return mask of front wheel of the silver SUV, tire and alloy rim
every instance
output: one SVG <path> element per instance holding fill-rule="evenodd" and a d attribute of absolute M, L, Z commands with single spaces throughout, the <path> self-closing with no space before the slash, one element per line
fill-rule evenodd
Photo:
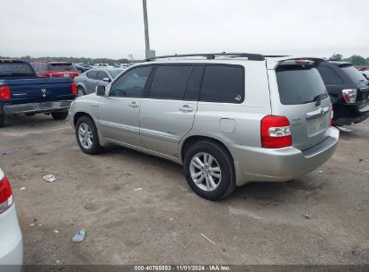
<path fill-rule="evenodd" d="M 101 151 L 99 134 L 95 123 L 88 116 L 82 116 L 75 125 L 75 137 L 80 149 L 86 154 L 97 154 Z"/>

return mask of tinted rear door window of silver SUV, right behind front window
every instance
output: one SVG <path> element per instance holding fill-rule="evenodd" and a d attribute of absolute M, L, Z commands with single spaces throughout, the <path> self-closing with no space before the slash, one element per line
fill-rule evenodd
<path fill-rule="evenodd" d="M 182 99 L 191 70 L 191 65 L 158 66 L 149 98 Z"/>

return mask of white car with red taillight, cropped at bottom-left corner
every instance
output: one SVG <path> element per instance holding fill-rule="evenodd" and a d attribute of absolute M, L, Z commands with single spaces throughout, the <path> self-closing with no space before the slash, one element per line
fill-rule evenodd
<path fill-rule="evenodd" d="M 15 210 L 12 187 L 1 168 L 0 241 L 0 270 L 3 267 L 6 271 L 21 271 L 23 263 L 22 233 Z M 12 267 L 4 267 L 5 265 L 12 265 Z M 13 267 L 13 265 L 18 265 L 18 267 Z"/>

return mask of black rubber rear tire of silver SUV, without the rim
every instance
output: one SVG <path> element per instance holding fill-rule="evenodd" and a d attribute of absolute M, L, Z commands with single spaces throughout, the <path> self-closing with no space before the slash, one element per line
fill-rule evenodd
<path fill-rule="evenodd" d="M 192 158 L 203 152 L 214 157 L 216 163 L 221 169 L 221 178 L 218 180 L 218 185 L 213 191 L 205 191 L 199 188 L 190 174 Z M 184 172 L 186 174 L 189 187 L 191 187 L 191 189 L 200 197 L 206 200 L 222 200 L 236 187 L 233 158 L 227 149 L 213 141 L 198 141 L 187 150 L 184 158 Z"/>

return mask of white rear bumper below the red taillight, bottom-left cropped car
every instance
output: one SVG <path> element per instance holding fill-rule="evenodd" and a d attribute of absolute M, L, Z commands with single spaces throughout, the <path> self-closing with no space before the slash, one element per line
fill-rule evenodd
<path fill-rule="evenodd" d="M 0 215 L 0 241 L 0 266 L 22 265 L 22 233 L 14 204 Z"/>

